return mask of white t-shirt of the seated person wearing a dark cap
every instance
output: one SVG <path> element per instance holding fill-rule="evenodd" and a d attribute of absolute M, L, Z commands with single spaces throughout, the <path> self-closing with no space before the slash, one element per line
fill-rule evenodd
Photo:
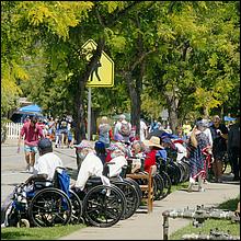
<path fill-rule="evenodd" d="M 48 152 L 36 160 L 34 174 L 47 174 L 47 180 L 53 180 L 57 167 L 64 168 L 61 159 L 54 152 Z"/>

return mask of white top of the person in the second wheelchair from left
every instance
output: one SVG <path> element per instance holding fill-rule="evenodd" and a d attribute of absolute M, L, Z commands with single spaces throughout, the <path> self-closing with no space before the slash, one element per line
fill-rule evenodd
<path fill-rule="evenodd" d="M 90 176 L 100 176 L 103 184 L 110 185 L 108 179 L 103 176 L 103 163 L 93 152 L 89 152 L 83 159 L 77 176 L 76 187 L 83 190 Z"/>

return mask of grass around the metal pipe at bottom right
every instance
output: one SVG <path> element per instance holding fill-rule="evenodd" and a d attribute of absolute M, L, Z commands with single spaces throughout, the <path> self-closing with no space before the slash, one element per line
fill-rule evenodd
<path fill-rule="evenodd" d="M 225 203 L 221 203 L 217 208 L 220 209 L 228 209 L 234 211 L 237 208 L 237 204 L 240 200 L 240 196 L 234 199 L 229 199 Z M 184 234 L 191 233 L 202 233 L 202 234 L 209 234 L 210 229 L 218 228 L 219 231 L 228 232 L 230 231 L 231 236 L 240 236 L 240 222 L 232 222 L 230 220 L 214 220 L 209 219 L 204 222 L 202 227 L 195 228 L 192 225 L 192 221 L 185 228 L 182 228 L 174 233 L 172 233 L 169 239 L 170 240 L 181 240 Z"/>

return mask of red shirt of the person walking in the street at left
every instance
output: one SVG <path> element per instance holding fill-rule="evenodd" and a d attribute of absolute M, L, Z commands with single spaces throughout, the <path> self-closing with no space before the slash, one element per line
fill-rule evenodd
<path fill-rule="evenodd" d="M 43 130 L 39 126 L 31 126 L 31 122 L 24 123 L 21 133 L 21 137 L 24 136 L 24 144 L 31 147 L 36 147 L 39 138 L 43 138 Z"/>

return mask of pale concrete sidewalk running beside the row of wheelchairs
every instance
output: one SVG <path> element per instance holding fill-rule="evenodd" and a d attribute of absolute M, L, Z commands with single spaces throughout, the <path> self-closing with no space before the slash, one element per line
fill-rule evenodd
<path fill-rule="evenodd" d="M 111 228 L 87 227 L 59 240 L 163 240 L 162 213 L 174 208 L 195 208 L 196 205 L 217 206 L 219 203 L 236 198 L 240 194 L 240 183 L 223 176 L 223 183 L 207 183 L 205 192 L 187 193 L 176 191 L 163 200 L 154 200 L 151 214 L 134 214 Z M 169 218 L 169 236 L 185 227 L 191 220 Z"/>

